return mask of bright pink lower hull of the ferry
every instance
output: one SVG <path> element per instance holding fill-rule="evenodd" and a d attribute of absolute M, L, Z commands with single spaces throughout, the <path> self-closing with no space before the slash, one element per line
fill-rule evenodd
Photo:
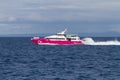
<path fill-rule="evenodd" d="M 37 45 L 81 45 L 83 44 L 82 41 L 67 41 L 67 40 L 50 40 L 46 38 L 37 38 L 37 39 L 31 39 L 33 43 Z"/>

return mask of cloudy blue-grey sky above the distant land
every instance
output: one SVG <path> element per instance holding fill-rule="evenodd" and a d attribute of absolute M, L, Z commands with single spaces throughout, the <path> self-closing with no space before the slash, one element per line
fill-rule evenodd
<path fill-rule="evenodd" d="M 120 0 L 0 0 L 0 35 L 120 32 Z"/>

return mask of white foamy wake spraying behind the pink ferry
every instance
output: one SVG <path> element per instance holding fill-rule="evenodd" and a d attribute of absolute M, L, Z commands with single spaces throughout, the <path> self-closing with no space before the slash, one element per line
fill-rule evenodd
<path fill-rule="evenodd" d="M 94 41 L 92 38 L 84 38 L 82 41 L 85 45 L 120 45 L 120 41 L 118 40 Z"/>

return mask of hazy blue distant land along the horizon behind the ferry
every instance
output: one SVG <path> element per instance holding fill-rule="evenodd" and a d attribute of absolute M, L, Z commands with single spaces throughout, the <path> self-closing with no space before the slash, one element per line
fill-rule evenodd
<path fill-rule="evenodd" d="M 5 34 L 0 35 L 0 37 L 45 37 L 49 35 L 54 35 L 56 33 L 36 33 L 36 34 Z M 68 33 L 69 34 L 69 33 Z M 72 33 L 74 34 L 74 33 Z M 76 33 L 80 37 L 120 37 L 120 32 L 104 32 L 104 33 Z"/>

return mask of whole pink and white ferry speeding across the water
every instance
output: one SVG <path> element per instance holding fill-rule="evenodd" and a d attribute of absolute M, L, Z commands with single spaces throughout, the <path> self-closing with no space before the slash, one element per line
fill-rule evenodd
<path fill-rule="evenodd" d="M 37 45 L 81 45 L 83 41 L 74 34 L 66 34 L 64 31 L 57 33 L 56 35 L 47 36 L 44 38 L 33 37 L 32 42 Z"/>

